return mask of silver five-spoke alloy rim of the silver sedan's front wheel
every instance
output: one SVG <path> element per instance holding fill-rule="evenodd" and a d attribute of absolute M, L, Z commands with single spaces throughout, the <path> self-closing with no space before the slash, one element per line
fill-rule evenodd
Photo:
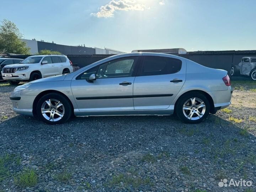
<path fill-rule="evenodd" d="M 41 112 L 48 121 L 59 121 L 65 113 L 63 104 L 56 99 L 48 99 L 43 102 Z"/>

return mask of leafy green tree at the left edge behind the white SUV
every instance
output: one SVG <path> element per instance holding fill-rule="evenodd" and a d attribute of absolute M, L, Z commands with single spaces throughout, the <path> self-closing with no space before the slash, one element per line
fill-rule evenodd
<path fill-rule="evenodd" d="M 16 25 L 4 19 L 0 25 L 0 53 L 30 54 L 30 48 L 20 38 L 22 34 Z"/>

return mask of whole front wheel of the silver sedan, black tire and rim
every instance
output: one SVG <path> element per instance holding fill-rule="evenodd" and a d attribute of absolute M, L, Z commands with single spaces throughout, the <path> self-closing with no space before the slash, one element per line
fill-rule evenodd
<path fill-rule="evenodd" d="M 38 118 L 50 125 L 68 121 L 73 113 L 72 109 L 70 101 L 58 93 L 44 95 L 36 106 Z"/>

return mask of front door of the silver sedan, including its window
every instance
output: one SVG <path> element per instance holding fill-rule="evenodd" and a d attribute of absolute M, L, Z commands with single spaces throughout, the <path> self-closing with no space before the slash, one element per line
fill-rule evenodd
<path fill-rule="evenodd" d="M 126 57 L 90 68 L 71 81 L 79 111 L 133 110 L 133 82 L 139 57 Z M 91 74 L 96 80 L 89 81 Z"/>

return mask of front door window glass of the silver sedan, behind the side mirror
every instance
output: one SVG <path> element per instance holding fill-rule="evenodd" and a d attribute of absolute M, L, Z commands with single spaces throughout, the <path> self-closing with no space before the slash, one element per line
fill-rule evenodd
<path fill-rule="evenodd" d="M 135 63 L 138 57 L 128 57 L 112 60 L 110 62 L 88 69 L 76 79 L 88 79 L 91 74 L 96 74 L 96 78 L 117 78 L 132 76 Z"/>

